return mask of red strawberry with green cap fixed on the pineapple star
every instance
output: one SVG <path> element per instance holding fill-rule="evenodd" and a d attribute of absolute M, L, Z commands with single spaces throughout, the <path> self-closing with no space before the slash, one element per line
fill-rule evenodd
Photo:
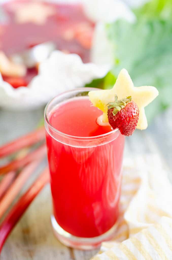
<path fill-rule="evenodd" d="M 108 120 L 113 129 L 118 128 L 123 135 L 132 135 L 139 118 L 139 109 L 131 96 L 108 103 Z"/>

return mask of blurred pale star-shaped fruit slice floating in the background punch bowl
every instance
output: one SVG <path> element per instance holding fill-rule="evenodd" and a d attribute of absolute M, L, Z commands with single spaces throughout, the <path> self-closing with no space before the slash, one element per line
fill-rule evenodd
<path fill-rule="evenodd" d="M 17 23 L 35 23 L 42 25 L 47 17 L 55 12 L 52 7 L 41 3 L 22 3 L 15 11 L 15 20 Z"/>

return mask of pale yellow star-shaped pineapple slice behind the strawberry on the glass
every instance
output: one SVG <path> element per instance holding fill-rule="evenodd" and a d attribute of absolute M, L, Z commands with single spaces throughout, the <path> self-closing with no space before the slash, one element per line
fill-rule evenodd
<path fill-rule="evenodd" d="M 117 94 L 119 100 L 127 96 L 132 97 L 132 100 L 137 104 L 140 111 L 137 129 L 146 129 L 148 123 L 144 107 L 157 97 L 158 90 L 152 86 L 134 87 L 127 70 L 122 69 L 112 89 L 93 90 L 89 92 L 89 99 L 92 104 L 103 111 L 104 123 L 108 122 L 107 104 L 114 102 L 115 94 Z"/>

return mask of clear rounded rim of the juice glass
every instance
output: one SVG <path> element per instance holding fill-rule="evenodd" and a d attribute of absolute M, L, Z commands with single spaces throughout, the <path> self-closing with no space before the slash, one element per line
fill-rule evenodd
<path fill-rule="evenodd" d="M 49 126 L 55 133 L 57 133 L 57 134 L 59 134 L 59 135 L 65 136 L 65 137 L 67 137 L 67 138 L 72 138 L 72 139 L 75 139 L 75 138 L 76 138 L 76 139 L 79 139 L 79 140 L 81 140 L 81 139 L 83 139 L 83 140 L 99 139 L 99 138 L 103 138 L 103 137 L 106 137 L 106 136 L 108 136 L 108 135 L 111 135 L 111 134 L 114 134 L 114 133 L 118 132 L 119 129 L 116 128 L 116 129 L 114 129 L 114 130 L 112 130 L 112 131 L 110 131 L 110 132 L 108 132 L 108 133 L 101 134 L 101 135 L 96 135 L 96 136 L 74 136 L 74 135 L 65 134 L 65 133 L 63 133 L 63 132 L 57 130 L 56 128 L 54 128 L 54 127 L 51 125 L 50 121 L 48 120 L 48 116 L 47 116 L 47 109 L 48 109 L 48 106 L 50 105 L 50 103 L 53 102 L 57 97 L 60 97 L 60 96 L 62 96 L 62 95 L 65 95 L 65 94 L 67 94 L 67 93 L 70 93 L 70 92 L 75 92 L 75 91 L 78 92 L 78 90 L 84 90 L 84 91 L 87 90 L 87 91 L 89 92 L 89 91 L 91 91 L 91 90 L 101 90 L 101 89 L 99 89 L 99 88 L 90 88 L 90 87 L 74 88 L 74 89 L 71 89 L 71 90 L 67 90 L 67 91 L 65 91 L 65 92 L 62 92 L 62 93 L 56 95 L 55 97 L 53 97 L 53 98 L 47 103 L 47 105 L 45 106 L 45 109 L 44 109 L 44 119 L 45 119 L 45 121 L 47 122 L 48 126 Z M 83 91 L 83 92 L 84 92 L 84 91 Z M 45 126 L 45 128 L 46 128 L 46 126 Z"/>

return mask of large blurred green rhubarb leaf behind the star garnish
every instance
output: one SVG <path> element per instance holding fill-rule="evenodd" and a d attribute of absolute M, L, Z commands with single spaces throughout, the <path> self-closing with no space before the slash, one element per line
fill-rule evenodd
<path fill-rule="evenodd" d="M 114 79 L 125 68 L 135 86 L 155 86 L 159 91 L 156 100 L 146 108 L 148 120 L 169 107 L 172 96 L 172 21 L 141 19 L 131 24 L 120 20 L 107 25 L 107 36 L 114 46 L 111 71 Z"/>

